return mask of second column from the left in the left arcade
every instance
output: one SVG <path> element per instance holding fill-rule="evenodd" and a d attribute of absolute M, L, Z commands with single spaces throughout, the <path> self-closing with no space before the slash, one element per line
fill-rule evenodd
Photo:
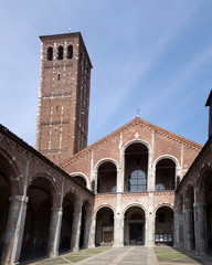
<path fill-rule="evenodd" d="M 61 239 L 61 225 L 62 225 L 62 209 L 51 209 L 51 220 L 47 241 L 47 256 L 55 257 L 59 255 L 59 244 Z"/>

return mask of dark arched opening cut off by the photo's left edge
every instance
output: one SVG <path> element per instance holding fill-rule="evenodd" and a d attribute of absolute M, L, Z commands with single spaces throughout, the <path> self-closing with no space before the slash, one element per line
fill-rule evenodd
<path fill-rule="evenodd" d="M 10 170 L 9 163 L 0 157 L 0 258 L 3 250 L 8 214 L 9 214 L 9 198 L 11 195 Z"/>

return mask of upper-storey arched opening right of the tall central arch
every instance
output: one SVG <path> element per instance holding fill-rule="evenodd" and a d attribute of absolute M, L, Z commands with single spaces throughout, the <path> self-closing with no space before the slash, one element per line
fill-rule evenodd
<path fill-rule="evenodd" d="M 161 159 L 156 165 L 156 191 L 176 189 L 176 163 L 172 159 Z"/>

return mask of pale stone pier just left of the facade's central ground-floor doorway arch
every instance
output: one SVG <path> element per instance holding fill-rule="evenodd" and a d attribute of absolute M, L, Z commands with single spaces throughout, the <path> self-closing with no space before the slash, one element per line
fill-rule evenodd
<path fill-rule="evenodd" d="M 114 220 L 114 246 L 124 246 L 124 219 L 120 213 Z"/>

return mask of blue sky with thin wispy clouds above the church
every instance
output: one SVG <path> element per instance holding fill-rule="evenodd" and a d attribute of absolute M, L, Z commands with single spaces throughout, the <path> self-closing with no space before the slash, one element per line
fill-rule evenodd
<path fill-rule="evenodd" d="M 0 123 L 34 146 L 39 35 L 82 32 L 92 63 L 88 144 L 136 117 L 199 144 L 212 88 L 210 0 L 1 0 Z"/>

